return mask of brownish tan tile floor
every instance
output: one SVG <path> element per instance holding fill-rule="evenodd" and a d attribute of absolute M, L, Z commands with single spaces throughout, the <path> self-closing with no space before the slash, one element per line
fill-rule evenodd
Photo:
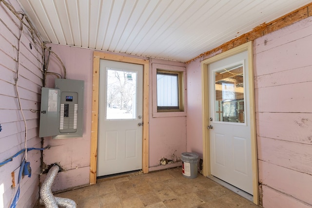
<path fill-rule="evenodd" d="M 181 168 L 102 179 L 55 196 L 73 199 L 77 208 L 259 208 L 201 174 L 184 177 Z"/>

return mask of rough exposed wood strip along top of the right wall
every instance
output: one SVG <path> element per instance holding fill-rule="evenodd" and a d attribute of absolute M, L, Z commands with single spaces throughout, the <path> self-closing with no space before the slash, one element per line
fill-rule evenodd
<path fill-rule="evenodd" d="M 299 9 L 296 9 L 295 11 L 293 11 L 289 14 L 286 14 L 283 17 L 275 19 L 271 22 L 263 23 L 263 24 L 255 27 L 249 33 L 245 33 L 245 34 L 243 34 L 237 38 L 234 38 L 228 42 L 223 43 L 222 45 L 220 45 L 220 46 L 218 46 L 218 47 L 216 47 L 210 51 L 202 53 L 202 54 L 198 55 L 197 57 L 186 61 L 186 64 L 189 64 L 198 58 L 201 58 L 201 60 L 204 60 L 206 58 L 214 57 L 217 54 L 221 54 L 225 51 L 228 51 L 230 49 L 235 48 L 236 46 L 247 43 L 247 42 L 252 41 L 256 38 L 260 38 L 264 35 L 272 33 L 272 32 L 279 30 L 283 27 L 291 25 L 292 23 L 294 23 L 296 21 L 306 19 L 310 16 L 312 16 L 312 3 L 309 3 L 309 4 L 303 6 Z"/>

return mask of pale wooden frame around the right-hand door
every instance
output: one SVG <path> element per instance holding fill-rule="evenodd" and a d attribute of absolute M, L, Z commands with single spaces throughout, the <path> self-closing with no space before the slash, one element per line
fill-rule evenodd
<path fill-rule="evenodd" d="M 218 54 L 214 57 L 201 61 L 201 77 L 202 77 L 202 132 L 203 132 L 203 175 L 211 174 L 210 169 L 210 135 L 209 129 L 209 72 L 208 65 L 221 59 L 234 56 L 235 54 L 248 51 L 248 72 L 249 72 L 249 98 L 250 98 L 250 124 L 251 124 L 251 151 L 252 151 L 252 168 L 253 168 L 253 196 L 254 204 L 259 204 L 258 189 L 258 163 L 257 163 L 257 143 L 255 129 L 255 105 L 254 105 L 254 70 L 253 70 L 253 42 L 247 42 L 236 48 Z M 247 104 L 247 105 L 248 105 Z"/>

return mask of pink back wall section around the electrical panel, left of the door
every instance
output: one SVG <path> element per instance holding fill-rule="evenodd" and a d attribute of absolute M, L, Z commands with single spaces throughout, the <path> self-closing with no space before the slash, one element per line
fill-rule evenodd
<path fill-rule="evenodd" d="M 43 162 L 48 166 L 59 163 L 66 170 L 59 172 L 52 190 L 64 190 L 89 184 L 91 152 L 91 111 L 92 111 L 92 74 L 93 51 L 70 46 L 48 44 L 66 67 L 66 78 L 84 80 L 83 136 L 82 138 L 52 139 L 44 138 L 44 146 L 51 149 L 44 151 Z M 59 60 L 51 54 L 48 71 L 63 75 Z M 47 76 L 46 87 L 54 88 L 56 76 Z M 46 174 L 40 175 L 40 182 Z"/>

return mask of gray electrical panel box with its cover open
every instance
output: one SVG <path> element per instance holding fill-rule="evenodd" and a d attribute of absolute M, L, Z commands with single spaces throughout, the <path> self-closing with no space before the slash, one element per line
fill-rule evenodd
<path fill-rule="evenodd" d="M 84 81 L 55 79 L 55 89 L 46 89 L 42 88 L 41 94 L 39 137 L 82 137 Z M 57 94 L 57 101 L 53 93 Z M 49 107 L 52 104 L 54 106 L 55 102 L 57 107 Z M 58 113 L 55 113 L 55 110 Z M 51 123 L 53 124 L 49 125 Z"/>

